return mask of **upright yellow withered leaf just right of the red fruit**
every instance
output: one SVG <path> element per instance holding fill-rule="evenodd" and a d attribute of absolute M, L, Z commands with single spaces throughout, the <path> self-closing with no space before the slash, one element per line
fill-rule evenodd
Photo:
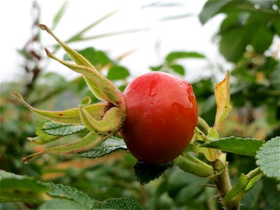
<path fill-rule="evenodd" d="M 225 118 L 232 109 L 230 105 L 230 73 L 227 71 L 225 78 L 215 84 L 215 97 L 217 102 L 217 112 L 214 128 L 217 132 L 221 132 Z"/>

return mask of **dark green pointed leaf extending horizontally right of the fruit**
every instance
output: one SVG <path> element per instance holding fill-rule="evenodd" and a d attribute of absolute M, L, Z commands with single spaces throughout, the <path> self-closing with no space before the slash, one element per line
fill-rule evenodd
<path fill-rule="evenodd" d="M 242 139 L 239 137 L 226 137 L 212 141 L 211 143 L 203 144 L 202 147 L 217 148 L 221 151 L 229 153 L 237 153 L 240 155 L 255 156 L 260 146 L 265 141 L 255 139 Z"/>

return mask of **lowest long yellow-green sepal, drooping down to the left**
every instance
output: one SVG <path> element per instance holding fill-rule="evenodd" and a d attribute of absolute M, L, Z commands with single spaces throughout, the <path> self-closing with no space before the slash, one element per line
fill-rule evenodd
<path fill-rule="evenodd" d="M 67 144 L 63 146 L 55 146 L 52 148 L 47 148 L 45 151 L 41 151 L 38 153 L 34 153 L 32 155 L 28 155 L 25 158 L 22 158 L 22 162 L 28 163 L 34 158 L 37 158 L 38 156 L 41 156 L 43 154 L 73 154 L 78 153 L 82 151 L 87 151 L 90 148 L 93 148 L 94 146 L 97 146 L 98 144 L 101 144 L 102 141 L 105 141 L 108 137 L 110 137 L 111 134 L 106 136 L 100 136 L 97 133 L 90 132 L 85 137 L 80 139 L 79 141 L 76 141 L 72 144 Z"/>

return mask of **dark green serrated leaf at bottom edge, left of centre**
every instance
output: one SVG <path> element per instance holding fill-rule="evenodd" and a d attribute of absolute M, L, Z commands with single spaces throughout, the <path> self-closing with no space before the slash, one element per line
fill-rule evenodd
<path fill-rule="evenodd" d="M 130 197 L 112 198 L 94 202 L 93 209 L 143 210 L 141 205 Z"/>

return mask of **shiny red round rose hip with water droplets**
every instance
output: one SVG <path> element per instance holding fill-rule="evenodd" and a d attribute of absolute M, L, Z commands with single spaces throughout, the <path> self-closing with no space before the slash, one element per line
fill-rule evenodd
<path fill-rule="evenodd" d="M 186 80 L 146 73 L 127 85 L 124 95 L 127 113 L 120 134 L 137 160 L 161 164 L 183 153 L 198 120 L 193 87 Z"/>

